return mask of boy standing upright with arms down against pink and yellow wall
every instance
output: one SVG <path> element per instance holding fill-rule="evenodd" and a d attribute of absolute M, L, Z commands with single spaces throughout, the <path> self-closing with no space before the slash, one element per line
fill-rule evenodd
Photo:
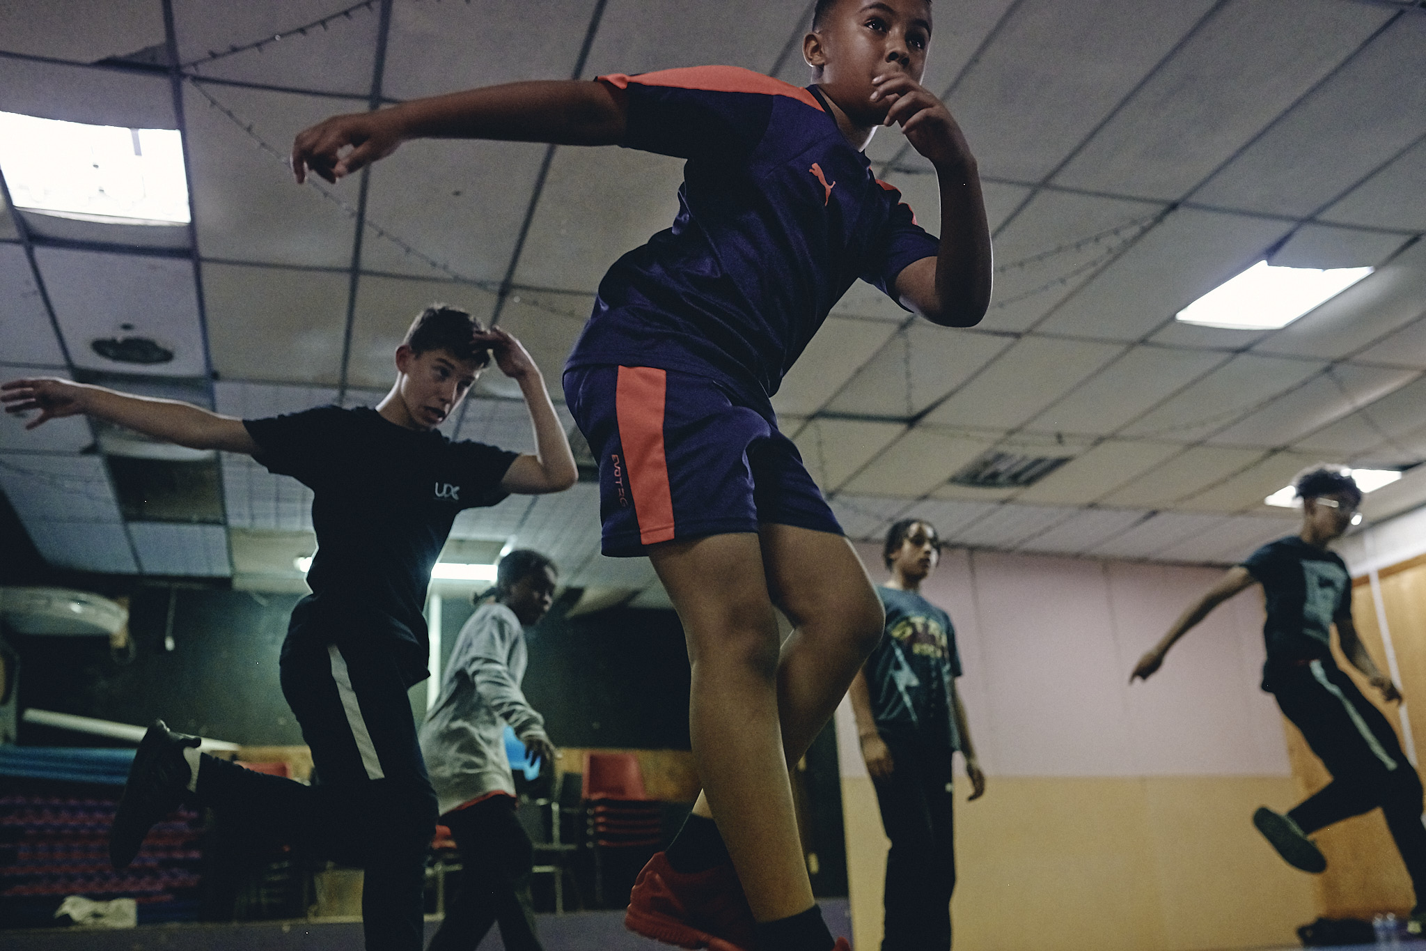
<path fill-rule="evenodd" d="M 965 757 L 971 800 L 985 791 L 955 690 L 961 657 L 944 610 L 921 597 L 940 560 L 935 529 L 920 519 L 887 532 L 883 559 L 891 580 L 877 589 L 886 636 L 851 682 L 848 696 L 861 756 L 877 790 L 887 853 L 881 951 L 951 947 L 955 890 L 951 759 Z"/>

